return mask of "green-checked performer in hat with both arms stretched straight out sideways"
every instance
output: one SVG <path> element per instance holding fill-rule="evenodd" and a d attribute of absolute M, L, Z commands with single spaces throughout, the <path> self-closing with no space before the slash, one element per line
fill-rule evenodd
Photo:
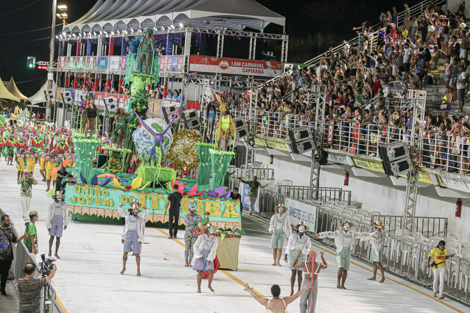
<path fill-rule="evenodd" d="M 346 289 L 345 288 L 345 281 L 346 277 L 348 276 L 349 266 L 351 262 L 351 249 L 354 240 L 370 239 L 375 238 L 372 234 L 369 233 L 360 233 L 353 230 L 349 230 L 350 227 L 354 226 L 354 224 L 350 221 L 344 221 L 339 224 L 339 227 L 343 228 L 343 230 L 335 230 L 335 231 L 323 231 L 318 233 L 313 237 L 313 239 L 317 238 L 335 238 L 335 245 L 336 245 L 336 263 L 338 266 L 338 281 L 336 288 L 338 289 Z"/>

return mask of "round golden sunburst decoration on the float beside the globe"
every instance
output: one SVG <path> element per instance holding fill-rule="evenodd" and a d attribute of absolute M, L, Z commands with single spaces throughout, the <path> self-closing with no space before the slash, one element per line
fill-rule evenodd
<path fill-rule="evenodd" d="M 201 135 L 196 130 L 178 130 L 173 134 L 170 150 L 165 158 L 178 169 L 193 169 L 199 166 L 199 155 L 196 143 L 201 141 Z"/>

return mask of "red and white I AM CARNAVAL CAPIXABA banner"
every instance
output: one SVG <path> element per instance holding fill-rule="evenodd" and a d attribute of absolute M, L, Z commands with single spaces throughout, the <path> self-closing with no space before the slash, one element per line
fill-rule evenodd
<path fill-rule="evenodd" d="M 191 55 L 189 58 L 189 70 L 197 72 L 275 77 L 281 74 L 282 63 L 275 61 L 243 60 Z"/>

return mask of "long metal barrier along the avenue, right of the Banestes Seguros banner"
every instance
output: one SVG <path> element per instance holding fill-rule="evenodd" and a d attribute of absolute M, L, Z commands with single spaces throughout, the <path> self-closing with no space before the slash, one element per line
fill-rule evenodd
<path fill-rule="evenodd" d="M 344 216 L 334 214 L 328 210 L 317 208 L 316 232 L 340 230 L 339 224 L 345 220 Z M 351 230 L 359 232 L 372 232 L 374 228 L 370 224 L 353 221 Z M 321 239 L 325 244 L 334 247 L 334 239 Z M 383 230 L 382 240 L 382 265 L 385 269 L 403 276 L 412 282 L 430 286 L 433 276 L 431 268 L 426 267 L 426 260 L 434 246 L 415 242 L 413 240 L 392 234 Z M 360 260 L 369 261 L 370 244 L 368 241 L 355 241 L 352 244 L 352 255 Z M 454 256 L 447 260 L 446 283 L 444 294 L 470 305 L 470 290 L 468 279 L 470 276 L 470 260 Z"/>

